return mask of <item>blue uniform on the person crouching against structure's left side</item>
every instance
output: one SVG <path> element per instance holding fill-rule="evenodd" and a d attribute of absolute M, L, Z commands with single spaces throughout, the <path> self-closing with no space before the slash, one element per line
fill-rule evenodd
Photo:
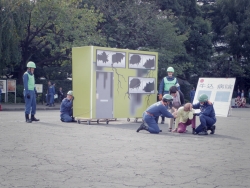
<path fill-rule="evenodd" d="M 62 100 L 61 106 L 60 106 L 60 112 L 61 112 L 61 120 L 63 122 L 72 122 L 72 116 L 73 116 L 73 100 L 68 100 L 67 98 L 64 98 Z"/>

